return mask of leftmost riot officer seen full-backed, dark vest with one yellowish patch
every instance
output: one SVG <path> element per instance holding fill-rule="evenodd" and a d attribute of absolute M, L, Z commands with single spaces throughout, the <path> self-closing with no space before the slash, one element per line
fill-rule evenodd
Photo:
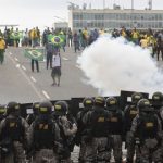
<path fill-rule="evenodd" d="M 3 163 L 23 163 L 26 160 L 27 122 L 20 116 L 20 104 L 9 102 L 7 117 L 0 123 L 0 142 L 7 150 L 2 155 Z"/>

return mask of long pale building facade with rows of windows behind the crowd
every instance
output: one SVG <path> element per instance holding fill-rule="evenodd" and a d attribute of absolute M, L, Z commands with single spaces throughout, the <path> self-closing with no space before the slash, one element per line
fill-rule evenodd
<path fill-rule="evenodd" d="M 68 27 L 73 30 L 85 27 L 118 29 L 123 26 L 128 29 L 163 29 L 163 10 L 71 9 L 68 18 Z"/>

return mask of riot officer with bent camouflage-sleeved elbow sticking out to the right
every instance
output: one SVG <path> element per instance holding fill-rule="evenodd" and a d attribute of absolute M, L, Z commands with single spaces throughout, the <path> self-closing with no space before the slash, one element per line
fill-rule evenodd
<path fill-rule="evenodd" d="M 60 128 L 62 138 L 62 152 L 59 153 L 59 162 L 71 163 L 71 148 L 77 131 L 77 125 L 72 124 L 67 118 L 68 104 L 66 101 L 57 101 L 54 103 L 54 120 Z"/>

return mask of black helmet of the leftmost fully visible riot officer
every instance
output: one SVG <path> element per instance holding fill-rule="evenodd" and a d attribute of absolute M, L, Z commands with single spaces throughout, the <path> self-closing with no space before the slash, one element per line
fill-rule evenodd
<path fill-rule="evenodd" d="M 20 110 L 21 110 L 20 103 L 14 102 L 14 101 L 9 102 L 7 105 L 7 115 L 14 114 L 14 113 L 18 114 Z"/>

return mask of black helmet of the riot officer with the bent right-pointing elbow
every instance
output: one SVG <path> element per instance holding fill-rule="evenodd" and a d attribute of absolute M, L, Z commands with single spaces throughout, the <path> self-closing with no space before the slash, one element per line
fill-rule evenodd
<path fill-rule="evenodd" d="M 54 114 L 55 115 L 66 115 L 68 112 L 68 104 L 66 101 L 57 101 L 54 103 Z"/>

